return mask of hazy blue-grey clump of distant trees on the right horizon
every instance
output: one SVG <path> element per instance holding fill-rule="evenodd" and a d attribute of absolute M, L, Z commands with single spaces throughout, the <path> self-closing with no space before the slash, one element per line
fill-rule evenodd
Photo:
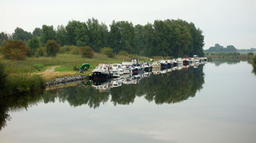
<path fill-rule="evenodd" d="M 209 49 L 206 49 L 205 52 L 237 52 L 235 46 L 229 45 L 226 48 L 216 43 L 215 46 L 211 46 Z"/>

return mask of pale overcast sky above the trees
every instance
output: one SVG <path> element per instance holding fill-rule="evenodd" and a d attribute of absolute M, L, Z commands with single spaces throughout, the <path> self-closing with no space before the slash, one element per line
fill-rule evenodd
<path fill-rule="evenodd" d="M 0 31 L 8 33 L 92 17 L 107 25 L 184 19 L 203 30 L 204 49 L 215 43 L 256 48 L 256 0 L 0 0 Z"/>

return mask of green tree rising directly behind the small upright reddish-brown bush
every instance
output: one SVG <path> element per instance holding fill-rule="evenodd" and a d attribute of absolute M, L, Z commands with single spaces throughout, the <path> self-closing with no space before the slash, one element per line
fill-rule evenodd
<path fill-rule="evenodd" d="M 46 43 L 48 40 L 56 40 L 56 32 L 53 29 L 53 25 L 43 25 L 41 32 L 42 43 Z"/>

